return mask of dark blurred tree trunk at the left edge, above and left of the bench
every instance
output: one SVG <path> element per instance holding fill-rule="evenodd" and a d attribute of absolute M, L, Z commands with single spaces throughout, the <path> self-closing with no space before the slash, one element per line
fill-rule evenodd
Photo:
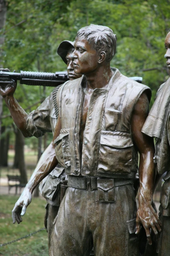
<path fill-rule="evenodd" d="M 0 166 L 8 166 L 9 132 L 5 134 L 6 127 L 1 127 L 0 140 Z"/>

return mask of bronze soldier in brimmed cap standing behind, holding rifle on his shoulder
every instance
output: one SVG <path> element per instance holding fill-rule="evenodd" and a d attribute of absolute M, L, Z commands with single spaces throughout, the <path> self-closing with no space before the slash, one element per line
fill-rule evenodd
<path fill-rule="evenodd" d="M 67 64 L 68 76 L 70 80 L 81 77 L 74 73 L 73 61 L 71 53 L 74 51 L 74 44 L 70 41 L 63 41 L 58 47 L 58 54 Z M 8 69 L 0 69 L 9 71 Z M 7 85 L 0 87 L 0 94 L 4 97 L 11 116 L 25 137 L 40 137 L 45 132 L 53 132 L 57 118 L 58 108 L 56 105 L 56 94 L 60 86 L 54 88 L 53 92 L 47 97 L 44 102 L 29 115 L 21 108 L 13 94 L 16 90 L 17 83 L 14 87 Z M 50 246 L 50 235 L 53 228 L 53 220 L 56 217 L 59 209 L 59 184 L 65 179 L 64 168 L 59 164 L 53 171 L 40 183 L 39 190 L 46 198 L 46 214 L 45 227 L 48 231 L 48 244 Z"/>

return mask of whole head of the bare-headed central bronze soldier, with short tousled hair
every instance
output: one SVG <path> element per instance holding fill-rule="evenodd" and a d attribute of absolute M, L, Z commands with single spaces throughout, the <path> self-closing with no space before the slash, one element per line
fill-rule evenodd
<path fill-rule="evenodd" d="M 88 74 L 99 65 L 110 64 L 116 53 L 116 41 L 109 27 L 91 24 L 80 28 L 74 43 L 75 73 Z"/>

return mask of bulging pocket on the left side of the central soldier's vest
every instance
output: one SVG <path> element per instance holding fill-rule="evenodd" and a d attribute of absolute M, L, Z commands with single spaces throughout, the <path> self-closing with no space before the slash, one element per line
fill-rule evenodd
<path fill-rule="evenodd" d="M 55 155 L 58 162 L 67 169 L 70 163 L 70 146 L 69 146 L 69 133 L 60 133 L 54 141 Z"/>

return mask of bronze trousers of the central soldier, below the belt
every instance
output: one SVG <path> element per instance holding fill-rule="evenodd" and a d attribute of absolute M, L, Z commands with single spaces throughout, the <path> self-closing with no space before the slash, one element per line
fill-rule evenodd
<path fill-rule="evenodd" d="M 115 187 L 115 202 L 99 202 L 98 190 L 68 187 L 50 241 L 50 256 L 138 256 L 133 184 Z"/>

